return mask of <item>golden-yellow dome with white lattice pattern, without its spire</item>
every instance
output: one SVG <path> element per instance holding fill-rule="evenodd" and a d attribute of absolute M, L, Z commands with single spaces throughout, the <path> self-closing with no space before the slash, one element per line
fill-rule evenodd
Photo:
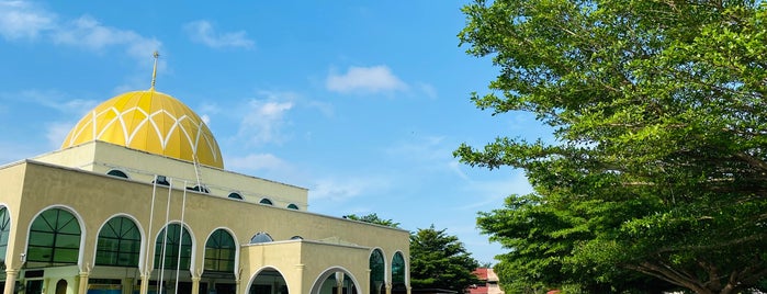
<path fill-rule="evenodd" d="M 181 101 L 153 89 L 116 95 L 95 106 L 61 144 L 103 140 L 151 154 L 224 168 L 218 144 L 202 118 Z"/>

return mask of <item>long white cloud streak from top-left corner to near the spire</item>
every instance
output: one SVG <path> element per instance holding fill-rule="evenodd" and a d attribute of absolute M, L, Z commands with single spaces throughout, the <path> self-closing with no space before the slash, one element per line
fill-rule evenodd
<path fill-rule="evenodd" d="M 61 21 L 55 13 L 23 1 L 0 1 L 0 34 L 11 41 L 40 38 L 93 52 L 125 48 L 128 56 L 147 63 L 161 46 L 155 38 L 102 25 L 89 15 Z"/>

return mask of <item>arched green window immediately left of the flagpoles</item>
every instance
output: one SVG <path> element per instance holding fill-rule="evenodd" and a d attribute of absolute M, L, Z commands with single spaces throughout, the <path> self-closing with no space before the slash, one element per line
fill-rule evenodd
<path fill-rule="evenodd" d="M 125 216 L 117 216 L 99 231 L 95 249 L 97 265 L 138 267 L 142 251 L 142 234 L 136 223 Z"/>

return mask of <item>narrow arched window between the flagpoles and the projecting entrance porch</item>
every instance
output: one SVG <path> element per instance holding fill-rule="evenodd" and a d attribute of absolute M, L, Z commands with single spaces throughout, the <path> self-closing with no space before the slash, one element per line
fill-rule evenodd
<path fill-rule="evenodd" d="M 213 231 L 205 242 L 205 271 L 233 272 L 237 246 L 225 229 Z"/>

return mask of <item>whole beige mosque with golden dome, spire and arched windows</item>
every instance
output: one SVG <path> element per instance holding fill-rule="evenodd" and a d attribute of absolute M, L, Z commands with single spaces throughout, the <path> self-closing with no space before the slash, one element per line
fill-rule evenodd
<path fill-rule="evenodd" d="M 154 76 L 60 149 L 0 166 L 3 293 L 410 292 L 408 231 L 311 213 L 307 189 L 226 170 Z"/>

